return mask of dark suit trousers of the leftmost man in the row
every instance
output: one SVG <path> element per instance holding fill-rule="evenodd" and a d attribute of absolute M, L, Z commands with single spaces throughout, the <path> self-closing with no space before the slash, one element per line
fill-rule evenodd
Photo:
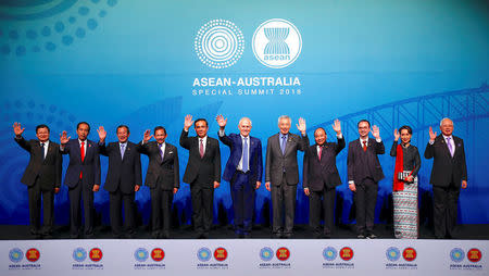
<path fill-rule="evenodd" d="M 33 235 L 51 235 L 52 224 L 54 221 L 54 190 L 42 190 L 40 188 L 39 178 L 34 181 L 33 186 L 27 187 L 29 200 L 29 223 L 30 234 Z M 40 228 L 40 212 L 42 197 L 42 215 L 43 224 Z"/>

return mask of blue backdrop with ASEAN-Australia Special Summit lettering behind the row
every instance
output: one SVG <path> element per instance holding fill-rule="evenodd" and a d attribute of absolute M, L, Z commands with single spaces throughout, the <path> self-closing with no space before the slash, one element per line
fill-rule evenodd
<path fill-rule="evenodd" d="M 93 140 L 95 129 L 103 125 L 109 141 L 116 139 L 118 124 L 129 125 L 135 142 L 145 129 L 164 125 L 167 141 L 178 145 L 186 114 L 206 117 L 215 138 L 217 114 L 229 118 L 228 133 L 249 116 L 264 149 L 281 114 L 292 117 L 294 133 L 297 120 L 304 117 L 311 143 L 319 125 L 327 128 L 328 140 L 335 138 L 330 124 L 336 117 L 347 142 L 356 139 L 356 122 L 368 118 L 380 127 L 387 152 L 393 129 L 409 124 L 421 154 L 428 126 L 437 128 L 440 118 L 450 116 L 455 135 L 465 139 L 468 165 L 460 222 L 488 223 L 489 150 L 479 138 L 489 135 L 488 15 L 485 0 L 2 0 L 0 223 L 28 223 L 27 191 L 20 183 L 28 154 L 13 141 L 14 122 L 26 127 L 26 138 L 35 138 L 35 126 L 46 123 L 54 141 L 62 130 L 75 137 L 79 121 L 91 124 Z M 289 33 L 267 34 L 262 26 Z M 275 46 L 266 55 L 262 48 L 268 42 Z M 183 174 L 188 152 L 178 151 Z M 222 147 L 223 166 L 228 155 Z M 101 159 L 104 179 L 106 160 Z M 343 183 L 346 159 L 347 149 L 338 156 Z M 380 162 L 386 178 L 377 217 L 388 222 L 393 159 L 387 153 Z M 143 156 L 143 173 L 147 164 Z M 422 219 L 431 204 L 430 170 L 431 162 L 423 159 Z M 339 217 L 350 223 L 352 193 L 343 184 L 338 195 Z M 149 189 L 136 199 L 147 222 Z M 108 201 L 106 191 L 96 195 L 105 223 Z M 187 184 L 175 203 L 180 223 L 189 223 Z M 227 183 L 216 190 L 214 203 L 215 217 L 224 206 L 221 214 L 233 218 Z M 55 222 L 66 224 L 66 187 L 55 204 Z M 261 187 L 256 223 L 267 217 L 263 206 L 269 204 L 269 192 Z M 299 189 L 297 223 L 306 223 L 308 214 L 309 200 Z"/>

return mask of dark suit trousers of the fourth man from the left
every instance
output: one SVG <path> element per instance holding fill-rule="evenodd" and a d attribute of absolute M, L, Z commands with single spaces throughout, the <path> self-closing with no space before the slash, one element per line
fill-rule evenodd
<path fill-rule="evenodd" d="M 170 222 L 172 215 L 173 191 L 162 190 L 160 187 L 151 188 L 151 224 L 152 235 L 170 236 Z"/>

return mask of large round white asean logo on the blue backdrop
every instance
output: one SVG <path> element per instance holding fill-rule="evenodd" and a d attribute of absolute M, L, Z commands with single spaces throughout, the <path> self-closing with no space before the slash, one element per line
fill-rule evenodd
<path fill-rule="evenodd" d="M 253 53 L 256 60 L 271 68 L 284 68 L 292 64 L 302 50 L 299 29 L 280 18 L 266 21 L 253 34 Z"/>

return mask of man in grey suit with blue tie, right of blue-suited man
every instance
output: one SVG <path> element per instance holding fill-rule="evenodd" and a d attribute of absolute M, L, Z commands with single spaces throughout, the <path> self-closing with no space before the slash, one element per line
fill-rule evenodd
<path fill-rule="evenodd" d="M 280 116 L 278 118 L 280 131 L 269 137 L 266 145 L 265 187 L 272 191 L 274 210 L 272 233 L 275 238 L 292 237 L 297 184 L 299 183 L 297 151 L 305 151 L 309 147 L 305 121 L 299 118 L 299 125 L 297 125 L 302 136 L 289 133 L 290 125 L 289 116 Z M 284 206 L 285 227 L 283 223 Z"/>

